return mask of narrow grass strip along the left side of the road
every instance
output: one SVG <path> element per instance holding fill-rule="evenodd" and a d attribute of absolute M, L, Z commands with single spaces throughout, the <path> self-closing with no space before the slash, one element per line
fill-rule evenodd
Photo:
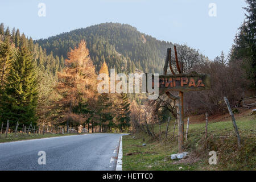
<path fill-rule="evenodd" d="M 15 133 L 9 133 L 7 134 L 7 137 L 5 138 L 5 134 L 0 134 L 0 143 L 3 142 L 14 142 L 14 141 L 20 141 L 20 140 L 31 140 L 31 139 L 39 139 L 39 138 L 50 138 L 50 137 L 63 137 L 68 135 L 77 135 L 77 134 L 22 134 L 18 133 L 15 135 Z"/>

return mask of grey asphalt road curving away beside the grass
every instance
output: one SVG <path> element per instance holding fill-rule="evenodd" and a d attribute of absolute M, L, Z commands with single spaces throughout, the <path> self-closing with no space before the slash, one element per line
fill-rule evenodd
<path fill-rule="evenodd" d="M 0 143 L 0 171 L 115 170 L 122 135 L 85 134 Z M 46 164 L 38 163 L 39 151 L 46 152 Z"/>

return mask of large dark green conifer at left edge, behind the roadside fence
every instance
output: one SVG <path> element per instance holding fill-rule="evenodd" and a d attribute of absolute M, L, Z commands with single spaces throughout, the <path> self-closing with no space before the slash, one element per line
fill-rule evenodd
<path fill-rule="evenodd" d="M 30 125 L 36 123 L 38 100 L 36 73 L 32 55 L 27 47 L 22 47 L 11 63 L 1 96 L 1 120 L 10 123 L 19 120 Z"/>

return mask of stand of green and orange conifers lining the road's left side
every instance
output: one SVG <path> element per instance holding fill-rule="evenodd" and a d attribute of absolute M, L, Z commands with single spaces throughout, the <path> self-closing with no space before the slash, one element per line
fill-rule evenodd
<path fill-rule="evenodd" d="M 101 71 L 108 72 L 102 65 Z M 67 133 L 69 126 L 79 130 L 85 125 L 92 133 L 127 130 L 127 95 L 98 94 L 96 76 L 84 40 L 69 48 L 64 60 L 19 29 L 10 32 L 0 24 L 0 122 L 8 121 L 11 131 L 16 122 L 65 127 Z"/>

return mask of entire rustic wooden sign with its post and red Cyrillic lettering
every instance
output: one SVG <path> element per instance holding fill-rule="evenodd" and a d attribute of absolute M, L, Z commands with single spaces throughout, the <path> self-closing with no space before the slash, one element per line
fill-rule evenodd
<path fill-rule="evenodd" d="M 171 63 L 171 48 L 167 49 L 166 63 L 164 64 L 163 73 L 164 75 L 159 76 L 159 95 L 167 94 L 169 98 L 174 100 L 177 108 L 177 123 L 179 127 L 178 131 L 178 143 L 179 143 L 179 153 L 184 150 L 184 92 L 189 91 L 200 91 L 210 89 L 210 77 L 206 74 L 199 74 L 196 72 L 183 73 L 183 63 L 179 64 L 177 59 L 176 46 L 174 46 L 175 51 L 175 61 L 177 71 L 176 74 L 174 69 L 172 69 Z M 167 75 L 168 64 L 171 69 L 172 75 Z M 154 78 L 152 78 L 152 88 L 155 87 Z M 178 96 L 171 94 L 171 91 L 179 91 Z"/>

